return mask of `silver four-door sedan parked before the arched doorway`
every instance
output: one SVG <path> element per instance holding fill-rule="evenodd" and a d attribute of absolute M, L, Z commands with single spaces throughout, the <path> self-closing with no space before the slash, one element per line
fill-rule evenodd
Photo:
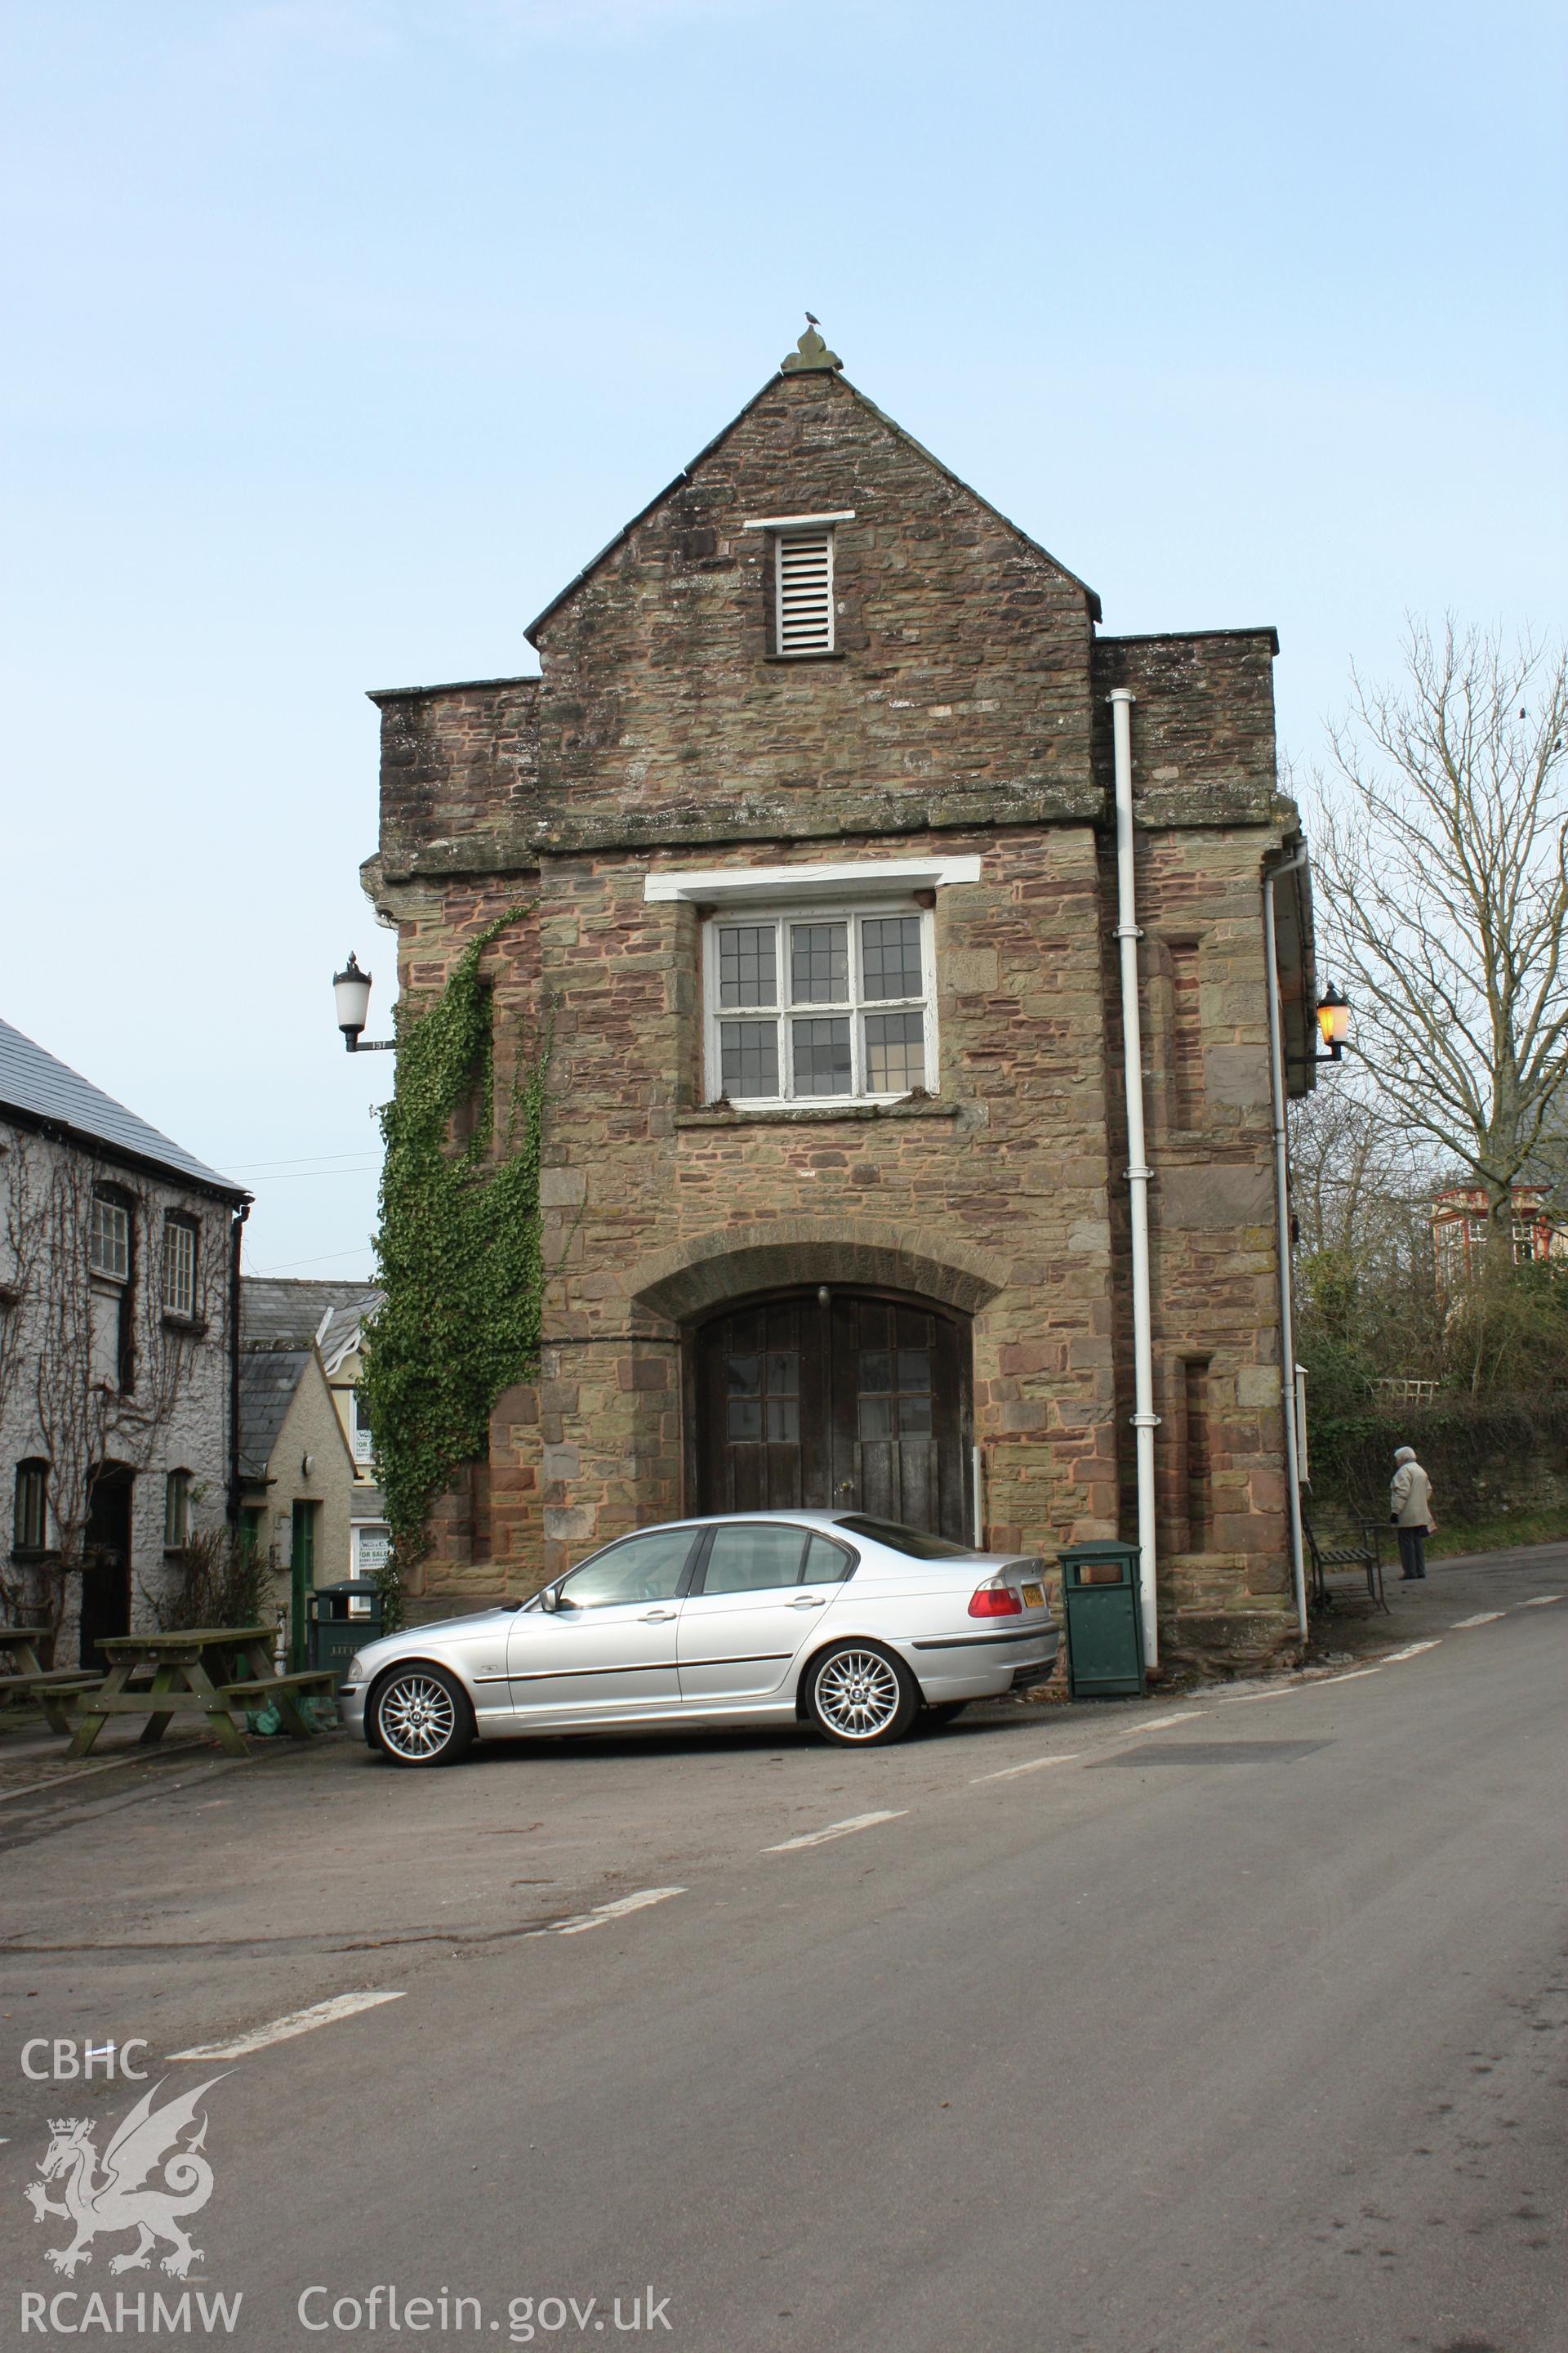
<path fill-rule="evenodd" d="M 1058 1628 L 1037 1558 L 835 1511 L 621 1537 L 531 1600 L 367 1642 L 339 1711 L 393 1765 L 475 1739 L 792 1725 L 875 1748 L 922 1708 L 1041 1682 Z"/>

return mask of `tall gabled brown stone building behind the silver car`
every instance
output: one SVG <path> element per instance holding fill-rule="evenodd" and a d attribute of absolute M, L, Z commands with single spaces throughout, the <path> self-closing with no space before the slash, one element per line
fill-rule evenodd
<path fill-rule="evenodd" d="M 1293 1640 L 1272 628 L 1105 635 L 806 334 L 527 635 L 538 675 L 371 696 L 402 988 L 517 911 L 501 1080 L 550 1038 L 541 1379 L 454 1482 L 423 1607 L 708 1508 L 1131 1532 L 1121 694 L 1159 1619 Z M 1305 864 L 1269 892 L 1302 1092 Z"/>

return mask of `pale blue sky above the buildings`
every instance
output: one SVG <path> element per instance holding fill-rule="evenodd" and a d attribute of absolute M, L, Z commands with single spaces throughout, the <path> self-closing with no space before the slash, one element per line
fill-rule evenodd
<path fill-rule="evenodd" d="M 9 0 L 0 1014 L 369 1271 L 367 687 L 846 374 L 1107 631 L 1561 626 L 1561 0 Z"/>

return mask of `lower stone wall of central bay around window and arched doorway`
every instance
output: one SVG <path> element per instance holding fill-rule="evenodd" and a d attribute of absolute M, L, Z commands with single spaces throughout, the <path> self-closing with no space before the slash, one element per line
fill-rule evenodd
<path fill-rule="evenodd" d="M 877 856 L 922 845 L 863 847 Z M 679 1294 L 682 1268 L 764 1252 L 778 1235 L 769 1282 L 823 1280 L 825 1252 L 846 1242 L 865 1268 L 924 1259 L 933 1282 L 976 1261 L 990 1268 L 973 1344 L 992 1532 L 1048 1548 L 1112 1532 L 1093 833 L 1009 831 L 943 847 L 983 847 L 985 871 L 936 904 L 940 1096 L 849 1115 L 701 1108 L 691 911 L 646 906 L 642 861 L 550 864 L 550 1569 L 682 1508 L 679 1348 L 665 1294 Z M 790 861 L 792 845 L 769 845 L 766 864 Z"/>

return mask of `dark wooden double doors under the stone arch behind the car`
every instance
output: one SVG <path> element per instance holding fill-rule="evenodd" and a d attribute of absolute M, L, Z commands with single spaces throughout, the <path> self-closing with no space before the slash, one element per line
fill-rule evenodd
<path fill-rule="evenodd" d="M 698 1511 L 863 1511 L 969 1541 L 969 1325 L 783 1292 L 691 1337 Z"/>

